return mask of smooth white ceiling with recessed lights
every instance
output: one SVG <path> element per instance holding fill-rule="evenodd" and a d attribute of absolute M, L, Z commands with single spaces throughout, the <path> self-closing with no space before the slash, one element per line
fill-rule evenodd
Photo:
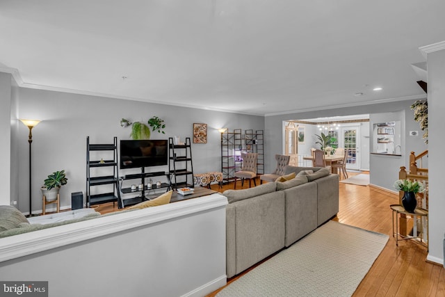
<path fill-rule="evenodd" d="M 417 99 L 411 64 L 445 40 L 444 12 L 443 0 L 1 0 L 0 70 L 24 87 L 259 115 Z"/>

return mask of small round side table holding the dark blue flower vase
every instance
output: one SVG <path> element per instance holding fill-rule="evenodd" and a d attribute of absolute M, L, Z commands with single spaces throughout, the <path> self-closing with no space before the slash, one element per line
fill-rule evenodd
<path fill-rule="evenodd" d="M 405 207 L 403 207 L 400 204 L 391 204 L 389 205 L 389 207 L 391 207 L 392 210 L 392 236 L 394 237 L 394 235 L 396 236 L 396 246 L 398 246 L 398 241 L 399 240 L 407 240 L 407 239 L 419 239 L 419 243 L 423 244 L 424 246 L 426 246 L 426 248 L 429 250 L 429 228 L 428 228 L 428 210 L 423 209 L 423 208 L 419 208 L 417 207 L 414 210 L 414 213 L 412 212 L 408 212 L 405 210 Z M 394 214 L 396 215 L 396 230 L 394 231 Z M 398 230 L 398 217 L 399 214 L 405 214 L 406 216 L 412 216 L 414 218 L 414 227 L 412 230 L 412 236 L 402 236 L 399 233 Z M 417 236 L 417 217 L 420 217 L 420 232 L 419 232 L 419 236 Z M 426 218 L 426 238 L 427 241 L 425 243 L 425 241 L 423 241 L 423 218 Z M 399 236 L 403 237 L 401 239 L 399 239 Z"/>

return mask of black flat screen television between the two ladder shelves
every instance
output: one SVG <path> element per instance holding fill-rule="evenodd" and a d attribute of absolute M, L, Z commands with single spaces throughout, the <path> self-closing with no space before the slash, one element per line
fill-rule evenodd
<path fill-rule="evenodd" d="M 120 168 L 168 165 L 168 142 L 161 140 L 120 141 Z"/>

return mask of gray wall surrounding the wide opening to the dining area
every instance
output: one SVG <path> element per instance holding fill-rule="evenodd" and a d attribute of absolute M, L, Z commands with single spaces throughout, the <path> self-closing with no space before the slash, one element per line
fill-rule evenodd
<path fill-rule="evenodd" d="M 394 115 L 398 117 L 403 117 L 400 113 L 404 113 L 404 124 L 405 131 L 410 130 L 418 130 L 419 123 L 414 121 L 414 112 L 411 111 L 410 106 L 414 103 L 415 100 L 405 100 L 399 102 L 389 102 L 389 103 L 380 103 L 380 104 L 369 104 L 364 106 L 350 106 L 342 109 L 325 109 L 321 111 L 307 111 L 303 113 L 290 113 L 286 115 L 270 115 L 265 118 L 265 138 L 267 139 L 265 150 L 269 153 L 266 157 L 266 171 L 270 170 L 275 166 L 275 160 L 273 159 L 273 155 L 277 154 L 277 152 L 282 152 L 282 122 L 284 120 L 291 119 L 307 119 L 307 118 L 324 118 L 324 117 L 332 117 L 337 115 L 359 115 L 364 113 L 369 113 L 370 117 L 378 116 L 380 113 L 394 113 Z M 369 123 L 370 128 L 372 127 L 372 122 Z M 427 150 L 428 147 L 425 143 L 423 143 L 423 139 L 421 138 L 422 133 L 419 133 L 419 136 L 407 136 L 407 133 L 403 131 L 402 138 L 405 138 L 405 143 L 402 145 L 402 157 L 398 158 L 400 163 L 396 161 L 394 164 L 391 163 L 391 166 L 394 166 L 394 169 L 388 170 L 388 165 L 385 161 L 383 162 L 375 162 L 373 163 L 373 159 L 371 156 L 370 159 L 370 175 L 371 175 L 371 184 L 375 184 L 376 186 L 381 186 L 383 188 L 387 188 L 391 191 L 394 191 L 392 188 L 392 184 L 394 181 L 398 179 L 398 168 L 409 163 L 409 152 L 423 152 Z M 371 135 L 371 131 L 369 132 Z M 307 139 L 310 138 L 310 135 L 306 136 Z M 371 139 L 371 138 L 369 138 Z M 408 152 L 406 152 L 408 150 Z M 373 172 L 378 172 L 378 174 L 374 175 Z"/>

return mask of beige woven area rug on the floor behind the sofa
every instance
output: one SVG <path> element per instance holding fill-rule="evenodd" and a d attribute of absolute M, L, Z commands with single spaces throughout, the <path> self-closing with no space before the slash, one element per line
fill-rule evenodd
<path fill-rule="evenodd" d="M 351 296 L 388 239 L 330 220 L 216 296 Z"/>

